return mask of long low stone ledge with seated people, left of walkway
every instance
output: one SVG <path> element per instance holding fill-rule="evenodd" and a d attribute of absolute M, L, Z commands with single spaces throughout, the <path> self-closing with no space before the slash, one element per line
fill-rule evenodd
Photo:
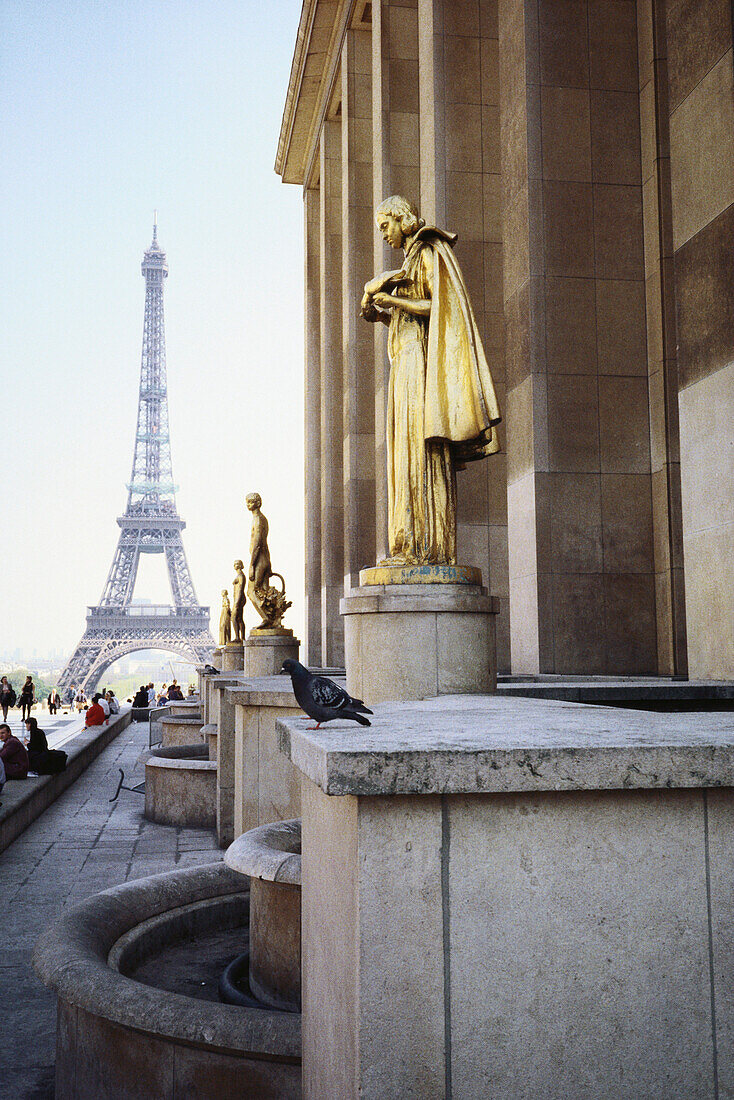
<path fill-rule="evenodd" d="M 120 711 L 106 726 L 83 729 L 63 745 L 68 760 L 58 776 L 39 776 L 37 779 L 11 779 L 0 794 L 0 851 L 20 836 L 59 794 L 72 785 L 102 749 L 122 733 L 132 721 L 132 710 Z"/>

